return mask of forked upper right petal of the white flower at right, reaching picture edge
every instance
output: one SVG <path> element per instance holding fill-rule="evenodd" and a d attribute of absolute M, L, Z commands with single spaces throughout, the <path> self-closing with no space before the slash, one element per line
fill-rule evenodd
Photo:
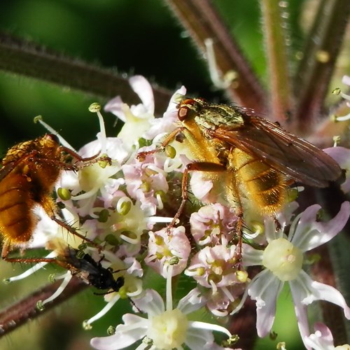
<path fill-rule="evenodd" d="M 350 216 L 350 203 L 342 203 L 338 214 L 328 222 L 316 221 L 316 215 L 321 207 L 311 205 L 301 214 L 291 242 L 301 251 L 309 251 L 325 244 L 335 237 L 343 228 Z M 290 231 L 293 229 L 291 228 Z"/>

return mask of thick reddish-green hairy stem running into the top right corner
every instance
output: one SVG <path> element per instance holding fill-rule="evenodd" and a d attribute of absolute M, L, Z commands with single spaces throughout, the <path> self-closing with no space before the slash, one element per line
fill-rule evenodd
<path fill-rule="evenodd" d="M 307 38 L 294 82 L 297 100 L 295 130 L 307 133 L 323 112 L 323 102 L 335 67 L 347 21 L 350 1 L 323 0 Z"/>

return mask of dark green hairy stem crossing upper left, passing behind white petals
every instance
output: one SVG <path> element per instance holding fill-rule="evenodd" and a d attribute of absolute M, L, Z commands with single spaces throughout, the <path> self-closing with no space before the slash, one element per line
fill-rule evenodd
<path fill-rule="evenodd" d="M 71 59 L 20 38 L 0 34 L 0 69 L 81 90 L 110 99 L 120 95 L 127 104 L 138 104 L 139 98 L 125 74 Z M 156 114 L 167 109 L 172 93 L 153 86 Z"/>

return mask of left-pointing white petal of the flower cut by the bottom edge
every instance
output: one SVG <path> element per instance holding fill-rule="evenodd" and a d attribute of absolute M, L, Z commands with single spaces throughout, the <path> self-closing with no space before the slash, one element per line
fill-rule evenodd
<path fill-rule="evenodd" d="M 118 325 L 114 335 L 92 338 L 91 346 L 98 350 L 124 349 L 146 336 L 147 320 L 145 318 L 134 314 L 125 314 L 123 321 L 125 324 Z"/>

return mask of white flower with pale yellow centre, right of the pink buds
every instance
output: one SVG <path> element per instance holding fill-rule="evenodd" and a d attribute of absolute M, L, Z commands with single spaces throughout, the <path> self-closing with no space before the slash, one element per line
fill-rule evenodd
<path fill-rule="evenodd" d="M 265 337 L 272 328 L 276 299 L 286 281 L 290 285 L 297 323 L 303 339 L 309 335 L 307 305 L 311 302 L 326 300 L 337 304 L 344 309 L 345 317 L 350 319 L 350 308 L 346 305 L 342 294 L 332 286 L 313 281 L 302 270 L 303 253 L 335 237 L 344 228 L 350 215 L 350 203 L 344 202 L 337 216 L 323 223 L 316 221 L 319 209 L 321 207 L 315 204 L 297 216 L 290 225 L 288 239 L 283 237 L 282 230 L 276 236 L 272 236 L 274 222 L 269 218 L 265 221 L 265 232 L 269 243 L 265 251 L 244 246 L 244 265 L 265 267 L 248 286 L 248 295 L 256 300 L 256 327 L 260 337 Z M 281 227 L 283 226 L 281 223 Z"/>

